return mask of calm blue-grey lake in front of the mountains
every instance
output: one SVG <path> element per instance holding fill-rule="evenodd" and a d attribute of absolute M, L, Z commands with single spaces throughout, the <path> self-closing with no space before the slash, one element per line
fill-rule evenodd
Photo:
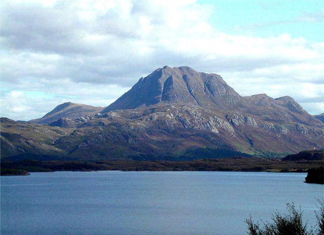
<path fill-rule="evenodd" d="M 1 176 L 1 234 L 247 234 L 286 203 L 316 224 L 304 173 L 54 172 Z"/>

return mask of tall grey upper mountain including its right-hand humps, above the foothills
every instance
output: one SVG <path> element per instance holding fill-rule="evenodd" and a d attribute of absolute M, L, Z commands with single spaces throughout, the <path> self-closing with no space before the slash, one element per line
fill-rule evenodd
<path fill-rule="evenodd" d="M 197 72 L 189 67 L 165 66 L 156 69 L 142 77 L 130 91 L 101 113 L 165 104 L 194 105 L 211 110 L 254 114 L 267 120 L 307 125 L 315 122 L 315 126 L 319 125 L 292 97 L 273 99 L 266 94 L 242 97 L 220 75 Z"/>

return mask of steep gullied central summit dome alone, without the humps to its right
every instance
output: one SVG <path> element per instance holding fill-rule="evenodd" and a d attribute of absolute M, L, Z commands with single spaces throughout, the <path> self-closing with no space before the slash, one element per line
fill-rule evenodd
<path fill-rule="evenodd" d="M 197 72 L 186 66 L 164 66 L 142 77 L 130 91 L 101 112 L 160 102 L 224 107 L 239 99 L 240 96 L 218 74 Z"/>

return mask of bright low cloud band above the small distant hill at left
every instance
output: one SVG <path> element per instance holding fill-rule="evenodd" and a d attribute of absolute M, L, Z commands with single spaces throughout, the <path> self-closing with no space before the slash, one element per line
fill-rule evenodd
<path fill-rule="evenodd" d="M 97 84 L 74 83 L 69 79 L 25 80 L 17 85 L 4 85 L 8 89 L 1 91 L 1 115 L 25 121 L 42 117 L 64 102 L 106 106 L 129 89 L 106 84 L 98 87 Z"/>

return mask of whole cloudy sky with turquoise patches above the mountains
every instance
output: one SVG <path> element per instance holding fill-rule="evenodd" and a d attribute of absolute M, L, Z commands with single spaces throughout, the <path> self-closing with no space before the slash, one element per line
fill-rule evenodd
<path fill-rule="evenodd" d="M 108 106 L 168 65 L 324 112 L 324 1 L 2 0 L 0 115 Z"/>

